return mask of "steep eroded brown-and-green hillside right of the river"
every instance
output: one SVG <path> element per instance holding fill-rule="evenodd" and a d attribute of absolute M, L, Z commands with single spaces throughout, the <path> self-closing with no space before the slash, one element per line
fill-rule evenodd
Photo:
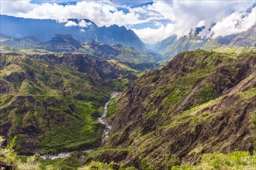
<path fill-rule="evenodd" d="M 109 104 L 110 137 L 86 162 L 164 169 L 256 145 L 256 57 L 185 51 Z M 214 160 L 214 159 L 211 159 Z"/>

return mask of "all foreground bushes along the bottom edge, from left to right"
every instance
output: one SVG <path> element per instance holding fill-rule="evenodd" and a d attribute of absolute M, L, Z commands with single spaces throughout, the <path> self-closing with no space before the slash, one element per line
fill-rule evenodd
<path fill-rule="evenodd" d="M 18 170 L 22 169 L 79 169 L 79 170 L 93 170 L 93 169 L 119 169 L 119 170 L 133 170 L 137 169 L 134 167 L 122 168 L 115 162 L 110 162 L 109 164 L 104 162 L 90 162 L 88 165 L 81 167 L 79 162 L 79 152 L 73 152 L 68 158 L 57 158 L 54 160 L 43 160 L 41 158 L 33 157 L 22 157 L 17 156 L 12 150 L 13 145 L 15 145 L 15 139 L 12 140 L 11 145 L 7 148 L 2 148 L 3 138 L 0 137 L 0 162 L 5 165 L 9 165 Z M 198 148 L 202 150 L 201 148 Z M 198 150 L 197 149 L 197 150 Z M 191 151 L 190 154 L 197 151 Z M 199 162 L 196 165 L 180 165 L 180 159 L 175 155 L 166 155 L 164 162 L 162 162 L 162 167 L 164 169 L 254 169 L 256 167 L 256 156 L 250 155 L 247 151 L 234 151 L 230 154 L 223 154 L 220 152 L 213 152 L 202 154 L 200 156 Z M 150 168 L 147 161 L 142 161 L 143 169 L 154 169 Z"/>

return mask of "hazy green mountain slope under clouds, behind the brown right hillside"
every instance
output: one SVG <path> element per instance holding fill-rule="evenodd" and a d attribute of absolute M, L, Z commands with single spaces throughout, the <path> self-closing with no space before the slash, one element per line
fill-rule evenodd
<path fill-rule="evenodd" d="M 167 39 L 154 44 L 152 49 L 157 53 L 163 53 L 165 59 L 169 60 L 185 49 L 215 49 L 220 46 L 232 47 L 256 45 L 256 26 L 251 27 L 251 29 L 248 29 L 245 32 L 229 36 L 220 36 L 215 39 L 202 39 L 199 36 L 199 32 L 191 32 L 189 36 L 182 36 L 178 39 L 177 36 L 170 36 Z"/>

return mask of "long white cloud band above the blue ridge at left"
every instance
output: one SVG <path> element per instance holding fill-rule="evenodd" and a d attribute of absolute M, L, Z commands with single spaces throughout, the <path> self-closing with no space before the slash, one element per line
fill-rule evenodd
<path fill-rule="evenodd" d="M 18 5 L 17 5 L 18 4 Z M 119 11 L 109 1 L 84 1 L 76 5 L 59 5 L 57 3 L 32 4 L 29 1 L 1 1 L 1 14 L 32 19 L 90 19 L 98 26 L 117 24 L 137 24 L 147 21 L 140 20 L 140 14 Z M 83 23 L 81 23 L 83 24 Z"/>

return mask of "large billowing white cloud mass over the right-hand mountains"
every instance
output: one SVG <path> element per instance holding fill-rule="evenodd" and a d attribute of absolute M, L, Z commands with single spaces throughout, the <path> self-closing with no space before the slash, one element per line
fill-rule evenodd
<path fill-rule="evenodd" d="M 200 36 L 209 38 L 243 32 L 256 24 L 254 1 L 157 1 L 144 8 L 144 13 L 157 12 L 170 22 L 158 29 L 133 29 L 144 42 L 153 43 L 169 36 L 189 35 L 196 27 L 205 26 Z M 252 8 L 247 13 L 247 8 Z M 138 10 L 138 9 L 134 9 Z M 247 13 L 247 15 L 246 15 Z M 244 18 L 242 17 L 244 16 Z M 237 22 L 239 26 L 237 26 Z M 216 24 L 215 26 L 213 26 Z M 213 27 L 213 28 L 212 28 Z M 212 29 L 208 31 L 208 29 Z"/>

